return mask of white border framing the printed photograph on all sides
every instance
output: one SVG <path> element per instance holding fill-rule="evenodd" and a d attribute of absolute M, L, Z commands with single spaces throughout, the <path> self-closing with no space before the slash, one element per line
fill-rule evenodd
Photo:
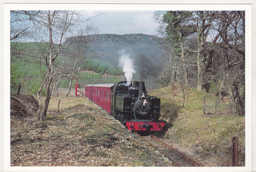
<path fill-rule="evenodd" d="M 246 149 L 245 167 L 200 167 L 200 168 L 168 168 L 168 167 L 10 167 L 10 10 L 245 10 L 246 11 Z M 3 65 L 3 107 L 4 107 L 4 171 L 155 171 L 155 170 L 174 170 L 174 171 L 251 171 L 252 163 L 252 6 L 246 4 L 4 4 L 4 65 Z"/>

